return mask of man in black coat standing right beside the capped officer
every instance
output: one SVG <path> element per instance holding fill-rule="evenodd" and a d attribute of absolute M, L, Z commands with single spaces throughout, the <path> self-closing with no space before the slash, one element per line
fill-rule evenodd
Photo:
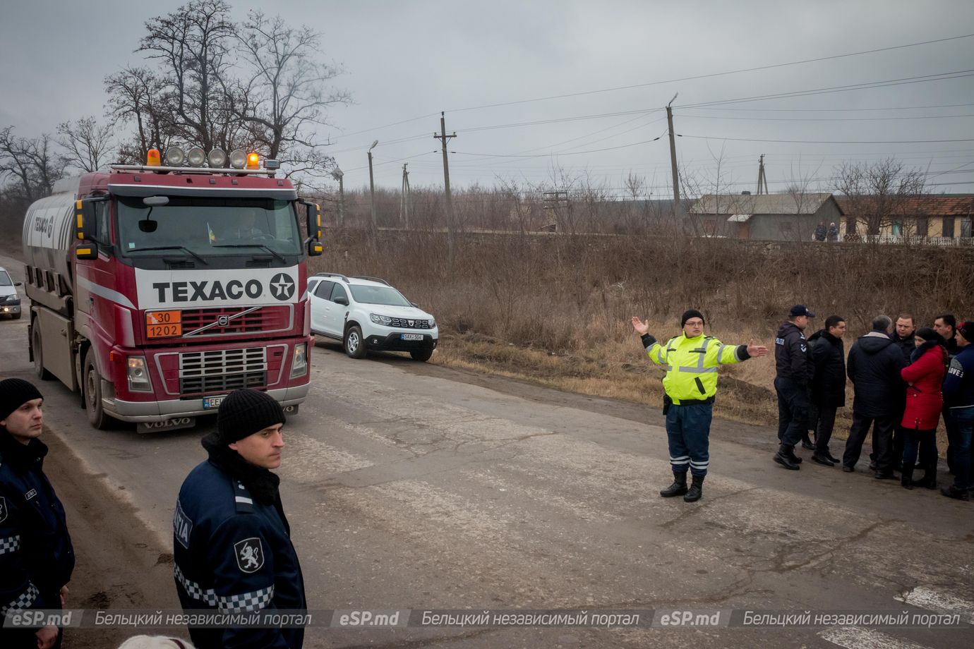
<path fill-rule="evenodd" d="M 815 409 L 815 452 L 813 462 L 835 466 L 841 460 L 829 451 L 836 425 L 836 411 L 845 406 L 845 320 L 838 315 L 825 318 L 825 328 L 808 339 L 815 374 L 811 379 L 811 404 Z"/>

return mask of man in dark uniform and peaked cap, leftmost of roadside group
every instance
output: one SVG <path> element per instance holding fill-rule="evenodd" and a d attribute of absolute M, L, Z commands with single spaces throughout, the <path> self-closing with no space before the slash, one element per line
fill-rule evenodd
<path fill-rule="evenodd" d="M 805 327 L 808 318 L 815 317 L 805 305 L 791 307 L 788 321 L 781 323 L 774 338 L 774 390 L 778 393 L 778 441 L 774 461 L 792 471 L 799 469 L 802 458 L 795 454 L 795 445 L 808 430 L 811 400 L 808 382 L 814 366 L 808 356 Z"/>

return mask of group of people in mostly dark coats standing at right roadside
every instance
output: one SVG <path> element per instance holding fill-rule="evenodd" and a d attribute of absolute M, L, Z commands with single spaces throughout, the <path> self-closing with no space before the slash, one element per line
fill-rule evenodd
<path fill-rule="evenodd" d="M 778 397 L 778 440 L 774 461 L 798 470 L 802 458 L 795 447 L 813 451 L 812 461 L 825 466 L 842 463 L 851 473 L 872 430 L 870 469 L 879 480 L 895 480 L 906 488 L 936 488 L 936 430 L 943 416 L 948 435 L 948 465 L 954 484 L 944 495 L 970 499 L 971 433 L 974 427 L 974 322 L 959 325 L 952 314 L 939 315 L 932 327 L 917 327 L 910 313 L 895 325 L 880 315 L 871 330 L 843 349 L 844 318 L 830 315 L 824 327 L 805 339 L 814 313 L 794 306 L 775 338 Z M 852 425 L 842 459 L 829 442 L 836 413 L 845 405 L 845 381 L 853 385 Z M 815 435 L 814 443 L 808 431 Z M 917 469 L 923 471 L 914 480 Z"/>

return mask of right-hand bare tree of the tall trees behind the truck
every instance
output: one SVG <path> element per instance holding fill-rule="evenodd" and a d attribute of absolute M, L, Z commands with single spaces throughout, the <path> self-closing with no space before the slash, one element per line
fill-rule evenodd
<path fill-rule="evenodd" d="M 307 25 L 291 27 L 281 17 L 267 18 L 257 10 L 247 14 L 238 32 L 238 50 L 250 73 L 237 117 L 269 158 L 305 170 L 314 168 L 308 162 L 324 162 L 316 155 L 324 143 L 315 127 L 327 125 L 330 106 L 351 101 L 347 91 L 326 88 L 341 70 L 316 60 L 320 40 Z"/>

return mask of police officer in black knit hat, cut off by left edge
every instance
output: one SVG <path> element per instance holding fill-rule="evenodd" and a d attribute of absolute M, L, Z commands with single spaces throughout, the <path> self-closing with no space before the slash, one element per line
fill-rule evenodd
<path fill-rule="evenodd" d="M 8 612 L 60 609 L 74 570 L 64 508 L 44 475 L 43 402 L 28 381 L 0 381 L 0 625 Z M 4 649 L 60 641 L 54 625 L 0 628 Z"/>

